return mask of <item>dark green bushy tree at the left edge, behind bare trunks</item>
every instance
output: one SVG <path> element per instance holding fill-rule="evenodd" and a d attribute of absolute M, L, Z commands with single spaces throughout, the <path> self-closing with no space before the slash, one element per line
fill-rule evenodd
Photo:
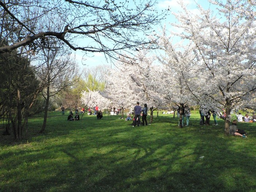
<path fill-rule="evenodd" d="M 16 51 L 0 54 L 0 118 L 12 122 L 16 131 L 14 136 L 20 139 L 29 116 L 29 106 L 34 101 L 39 81 L 30 61 Z M 5 130 L 9 134 L 9 130 Z"/>

